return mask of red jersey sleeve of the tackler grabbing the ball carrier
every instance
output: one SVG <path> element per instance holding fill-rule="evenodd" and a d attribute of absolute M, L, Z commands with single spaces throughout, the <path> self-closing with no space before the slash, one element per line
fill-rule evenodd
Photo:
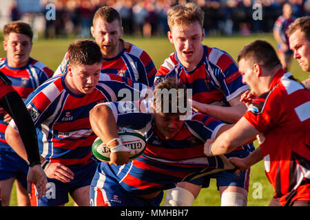
<path fill-rule="evenodd" d="M 276 92 L 269 91 L 256 98 L 248 107 L 244 117 L 260 133 L 265 133 L 280 122 L 284 105 Z"/>

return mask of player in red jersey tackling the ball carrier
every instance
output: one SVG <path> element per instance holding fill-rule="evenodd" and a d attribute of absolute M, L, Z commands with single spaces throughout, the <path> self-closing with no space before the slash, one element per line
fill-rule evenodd
<path fill-rule="evenodd" d="M 258 135 L 260 146 L 253 153 L 229 160 L 244 170 L 264 159 L 275 190 L 269 206 L 309 206 L 310 91 L 282 69 L 276 51 L 266 41 L 243 47 L 238 64 L 254 100 L 231 129 L 215 142 L 207 140 L 205 153 L 229 153 Z"/>

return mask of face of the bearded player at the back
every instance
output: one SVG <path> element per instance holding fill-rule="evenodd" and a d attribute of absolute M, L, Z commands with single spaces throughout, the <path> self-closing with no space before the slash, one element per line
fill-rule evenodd
<path fill-rule="evenodd" d="M 119 52 L 119 39 L 123 35 L 123 27 L 119 25 L 117 19 L 107 23 L 103 19 L 96 19 L 91 28 L 92 36 L 101 48 L 103 57 L 113 58 Z"/>

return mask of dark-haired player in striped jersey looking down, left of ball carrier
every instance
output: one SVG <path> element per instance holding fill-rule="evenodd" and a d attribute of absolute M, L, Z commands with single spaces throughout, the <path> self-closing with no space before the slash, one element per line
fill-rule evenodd
<path fill-rule="evenodd" d="M 78 206 L 90 205 L 90 182 L 96 171 L 89 111 L 96 104 L 123 100 L 118 91 L 132 92 L 134 82 L 101 74 L 102 54 L 94 41 L 83 40 L 69 47 L 68 72 L 46 81 L 25 101 L 37 128 L 42 167 L 48 176 L 45 197 L 32 190 L 32 206 L 63 206 L 68 194 Z M 146 86 L 136 83 L 139 92 Z M 23 147 L 14 122 L 6 131 L 14 148 Z"/>

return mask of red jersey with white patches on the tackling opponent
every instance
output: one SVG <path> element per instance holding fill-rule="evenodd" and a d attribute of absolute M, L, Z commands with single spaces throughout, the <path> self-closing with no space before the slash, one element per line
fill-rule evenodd
<path fill-rule="evenodd" d="M 280 204 L 310 200 L 310 91 L 279 71 L 245 118 L 262 133 L 265 172 Z"/>

